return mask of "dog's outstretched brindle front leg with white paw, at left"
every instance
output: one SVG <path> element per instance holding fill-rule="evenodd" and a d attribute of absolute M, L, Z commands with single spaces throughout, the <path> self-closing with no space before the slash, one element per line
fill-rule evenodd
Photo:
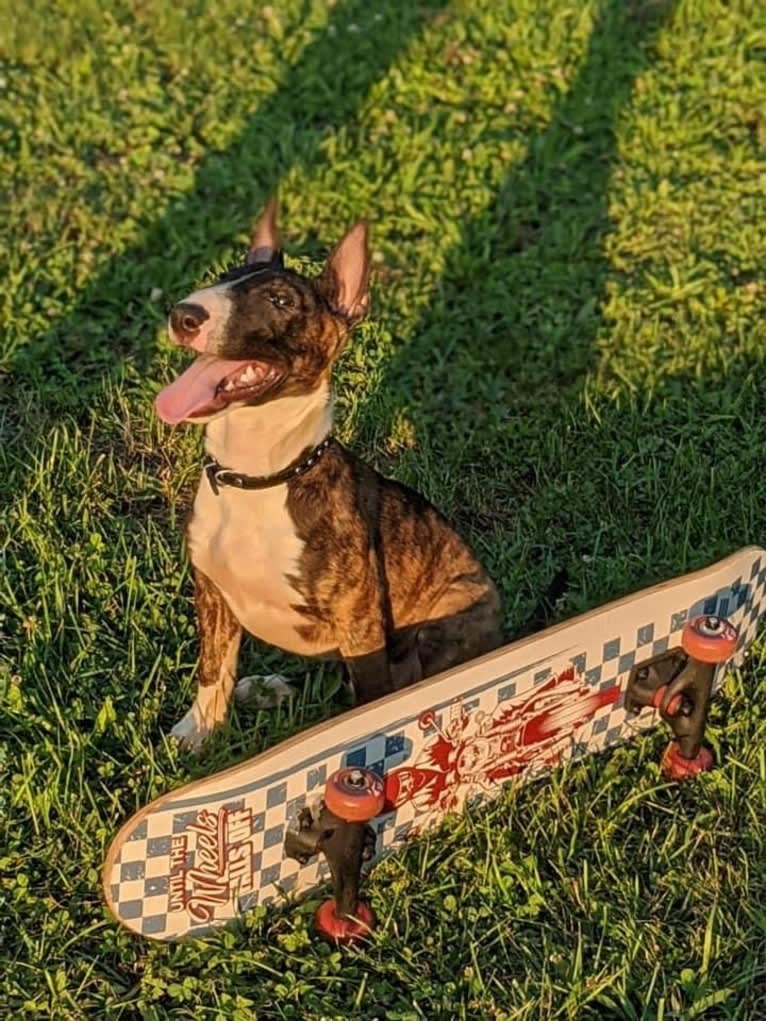
<path fill-rule="evenodd" d="M 194 604 L 199 627 L 197 696 L 171 733 L 183 744 L 198 748 L 226 719 L 237 671 L 242 628 L 221 591 L 194 571 Z"/>

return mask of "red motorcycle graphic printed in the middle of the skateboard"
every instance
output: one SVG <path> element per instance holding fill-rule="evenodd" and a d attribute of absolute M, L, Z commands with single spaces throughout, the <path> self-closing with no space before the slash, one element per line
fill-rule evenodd
<path fill-rule="evenodd" d="M 410 801 L 418 815 L 451 812 L 478 790 L 554 766 L 588 720 L 619 697 L 617 685 L 593 690 L 570 667 L 523 701 L 500 703 L 493 713 L 468 713 L 456 702 L 446 725 L 439 727 L 435 714 L 426 712 L 419 724 L 422 730 L 433 729 L 433 738 L 413 766 L 386 776 L 386 808 Z"/>

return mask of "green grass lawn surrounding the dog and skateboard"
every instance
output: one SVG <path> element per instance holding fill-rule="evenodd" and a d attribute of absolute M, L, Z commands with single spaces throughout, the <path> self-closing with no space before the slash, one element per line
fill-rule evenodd
<path fill-rule="evenodd" d="M 522 626 L 766 541 L 759 0 L 3 0 L 0 1016 L 763 1019 L 766 646 L 713 712 L 509 791 L 380 866 L 336 952 L 313 903 L 171 946 L 106 915 L 149 798 L 345 704 L 336 671 L 166 740 L 196 639 L 199 437 L 151 400 L 163 308 L 279 186 L 291 256 L 374 222 L 339 431 L 472 539 Z"/>

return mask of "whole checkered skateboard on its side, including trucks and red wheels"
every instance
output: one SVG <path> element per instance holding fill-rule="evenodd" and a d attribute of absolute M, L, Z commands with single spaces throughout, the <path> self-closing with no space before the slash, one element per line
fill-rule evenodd
<path fill-rule="evenodd" d="M 343 713 L 138 812 L 109 847 L 106 904 L 178 939 L 330 880 L 320 932 L 364 935 L 363 871 L 468 800 L 661 721 L 668 778 L 710 769 L 711 696 L 765 612 L 766 550 L 749 547 Z"/>

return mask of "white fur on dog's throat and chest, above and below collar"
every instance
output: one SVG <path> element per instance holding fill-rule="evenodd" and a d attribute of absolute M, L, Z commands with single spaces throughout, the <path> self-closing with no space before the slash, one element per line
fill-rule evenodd
<path fill-rule="evenodd" d="M 208 452 L 221 465 L 268 475 L 320 442 L 330 430 L 328 388 L 259 407 L 229 411 L 209 423 Z M 213 493 L 203 476 L 188 532 L 192 564 L 213 582 L 250 634 L 290 652 L 327 652 L 299 632 L 300 593 L 290 581 L 300 573 L 303 543 L 287 509 L 287 486 Z"/>

